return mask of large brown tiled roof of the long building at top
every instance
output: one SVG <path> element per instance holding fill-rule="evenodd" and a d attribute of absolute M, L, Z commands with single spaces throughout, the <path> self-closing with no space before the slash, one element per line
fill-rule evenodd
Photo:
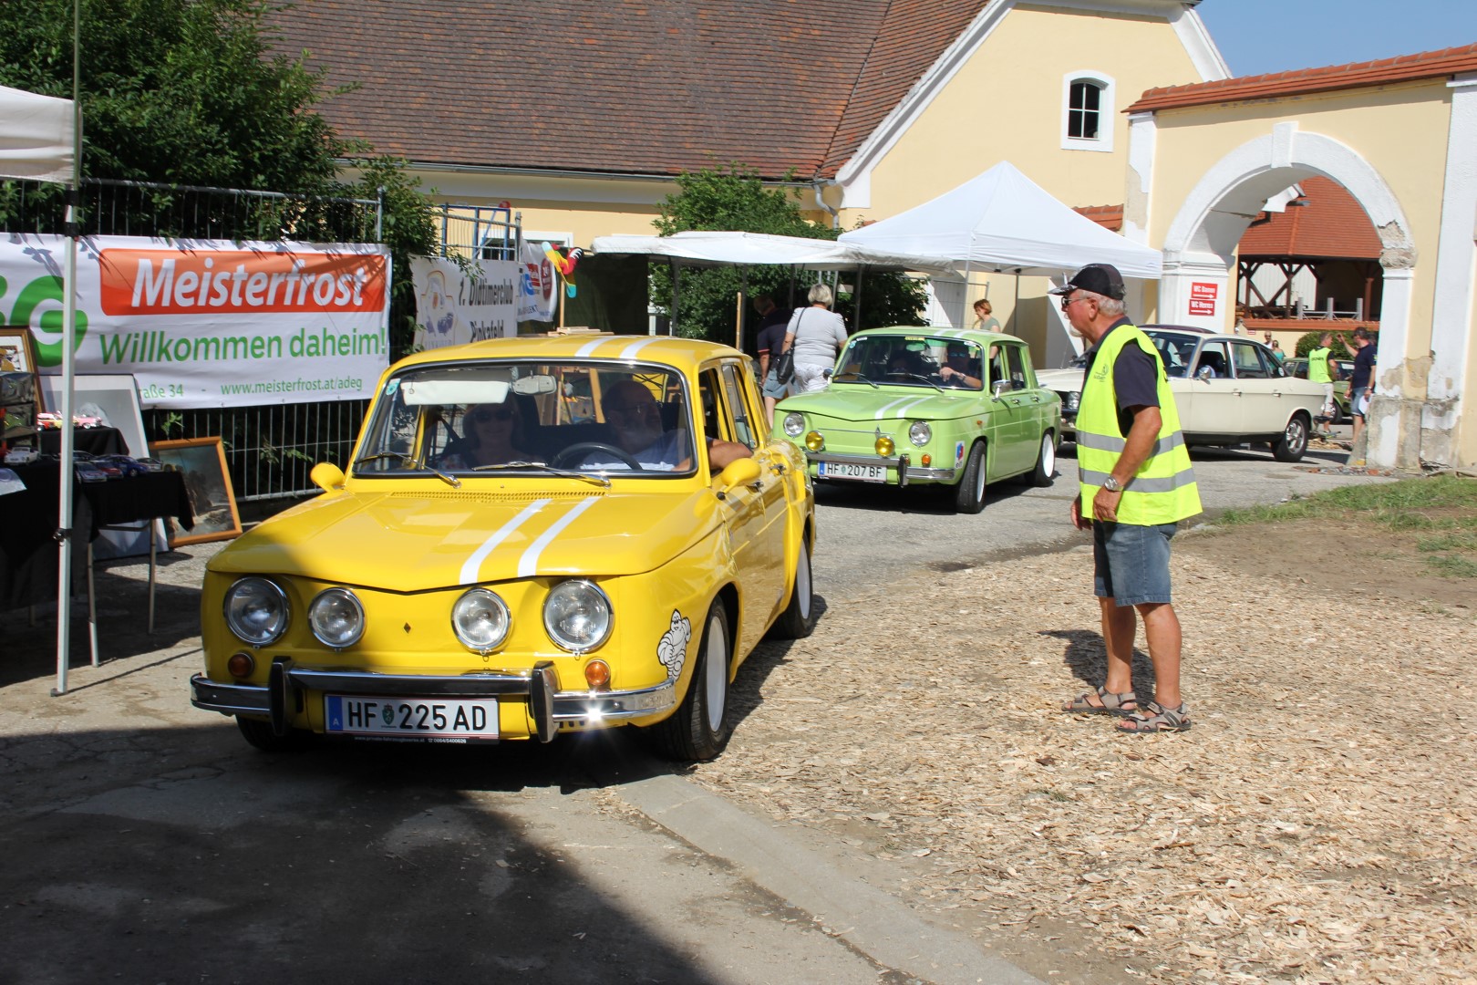
<path fill-rule="evenodd" d="M 833 176 L 991 0 L 301 0 L 319 111 L 419 164 Z"/>

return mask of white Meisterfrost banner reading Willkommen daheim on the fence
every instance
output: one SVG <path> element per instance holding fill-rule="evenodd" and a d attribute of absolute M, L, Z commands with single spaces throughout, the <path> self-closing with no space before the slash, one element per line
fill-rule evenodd
<path fill-rule="evenodd" d="M 0 325 L 62 363 L 62 236 L 0 236 Z M 78 374 L 133 374 L 146 408 L 368 397 L 390 362 L 380 244 L 90 236 L 77 251 Z"/>

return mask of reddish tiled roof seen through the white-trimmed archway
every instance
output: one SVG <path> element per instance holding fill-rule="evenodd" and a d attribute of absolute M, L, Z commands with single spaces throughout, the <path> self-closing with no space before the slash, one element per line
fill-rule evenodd
<path fill-rule="evenodd" d="M 1261 213 L 1241 238 L 1242 258 L 1380 258 L 1380 233 L 1343 185 L 1326 177 L 1310 177 L 1301 186 L 1307 205 Z"/>

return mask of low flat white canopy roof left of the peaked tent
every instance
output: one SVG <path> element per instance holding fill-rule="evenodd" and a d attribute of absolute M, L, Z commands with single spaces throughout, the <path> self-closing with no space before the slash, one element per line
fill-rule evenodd
<path fill-rule="evenodd" d="M 672 236 L 614 235 L 597 236 L 591 245 L 597 254 L 672 257 L 691 266 L 780 264 L 805 267 L 806 270 L 885 267 L 936 275 L 954 273 L 953 264 L 948 261 L 899 255 L 830 239 L 772 236 L 756 232 L 687 230 Z"/>

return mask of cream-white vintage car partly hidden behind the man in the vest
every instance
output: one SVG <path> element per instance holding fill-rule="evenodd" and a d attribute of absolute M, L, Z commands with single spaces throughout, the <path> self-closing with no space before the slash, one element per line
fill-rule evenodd
<path fill-rule="evenodd" d="M 1288 375 L 1270 349 L 1244 335 L 1177 325 L 1142 328 L 1159 350 L 1188 445 L 1266 442 L 1279 462 L 1303 458 L 1313 418 L 1323 406 L 1320 384 Z M 1044 369 L 1035 377 L 1062 397 L 1062 437 L 1071 440 L 1083 366 Z"/>

